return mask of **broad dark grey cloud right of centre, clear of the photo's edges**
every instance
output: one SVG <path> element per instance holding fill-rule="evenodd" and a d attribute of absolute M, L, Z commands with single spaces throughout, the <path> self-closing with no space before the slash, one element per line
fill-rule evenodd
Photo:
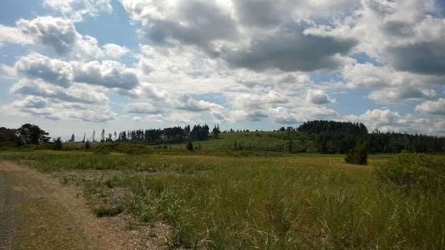
<path fill-rule="evenodd" d="M 345 64 L 346 55 L 357 44 L 353 39 L 305 35 L 304 24 L 284 24 L 273 35 L 252 39 L 250 47 L 227 49 L 223 56 L 232 67 L 257 72 L 277 68 L 284 72 L 333 71 Z"/>

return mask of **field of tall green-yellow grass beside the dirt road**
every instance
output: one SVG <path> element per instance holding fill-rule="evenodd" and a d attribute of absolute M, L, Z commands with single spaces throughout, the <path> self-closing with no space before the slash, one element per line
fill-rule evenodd
<path fill-rule="evenodd" d="M 170 224 L 171 248 L 444 249 L 444 193 L 378 183 L 374 167 L 393 157 L 0 153 L 81 187 L 97 215 Z"/>

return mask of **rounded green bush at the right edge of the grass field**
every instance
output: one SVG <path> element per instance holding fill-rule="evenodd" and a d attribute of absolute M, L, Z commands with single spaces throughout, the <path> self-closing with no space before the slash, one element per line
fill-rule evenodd
<path fill-rule="evenodd" d="M 425 153 L 399 153 L 375 169 L 382 183 L 391 183 L 405 192 L 437 192 L 445 185 L 445 160 Z"/>

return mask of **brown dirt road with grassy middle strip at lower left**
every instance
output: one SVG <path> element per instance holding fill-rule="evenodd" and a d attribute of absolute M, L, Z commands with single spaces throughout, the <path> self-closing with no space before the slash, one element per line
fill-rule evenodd
<path fill-rule="evenodd" d="M 0 160 L 0 250 L 152 249 L 132 242 L 118 223 L 95 217 L 56 178 Z"/>

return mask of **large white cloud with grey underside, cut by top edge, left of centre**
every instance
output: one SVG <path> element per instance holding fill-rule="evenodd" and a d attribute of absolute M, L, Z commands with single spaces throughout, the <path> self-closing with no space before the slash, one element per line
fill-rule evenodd
<path fill-rule="evenodd" d="M 229 12 L 212 1 L 120 0 L 131 19 L 142 24 L 140 35 L 153 44 L 195 45 L 216 53 L 213 42 L 236 39 Z"/>

